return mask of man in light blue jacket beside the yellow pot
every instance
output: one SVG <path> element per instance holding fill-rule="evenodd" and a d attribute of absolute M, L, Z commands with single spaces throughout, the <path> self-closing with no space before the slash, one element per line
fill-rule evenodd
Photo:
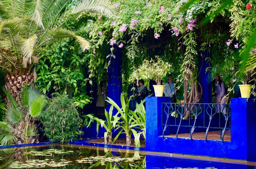
<path fill-rule="evenodd" d="M 165 97 L 170 98 L 170 103 L 176 103 L 176 86 L 173 83 L 172 75 L 168 75 L 168 81 L 164 85 Z"/>

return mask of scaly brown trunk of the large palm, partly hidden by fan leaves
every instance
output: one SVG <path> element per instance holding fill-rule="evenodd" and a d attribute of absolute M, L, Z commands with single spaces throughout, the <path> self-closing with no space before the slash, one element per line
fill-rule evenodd
<path fill-rule="evenodd" d="M 23 72 L 21 76 L 19 73 L 13 73 L 13 76 L 10 74 L 6 74 L 5 79 L 6 79 L 6 86 L 5 86 L 6 90 L 10 92 L 10 94 L 18 104 L 20 104 L 19 97 L 20 97 L 20 92 L 22 91 L 22 86 L 24 86 L 25 84 L 31 84 L 36 80 L 34 79 L 33 74 L 28 72 Z M 11 104 L 8 97 L 6 97 L 6 104 Z M 26 124 L 26 120 L 24 120 L 23 122 L 20 123 L 20 125 L 18 124 L 14 126 L 14 130 L 13 130 L 14 134 L 20 137 L 23 137 L 24 140 L 28 140 L 26 144 L 38 143 L 38 136 L 31 137 L 30 139 L 26 137 L 24 138 L 24 133 L 22 131 L 22 128 L 24 129 L 26 125 L 30 127 L 33 124 L 36 124 L 36 120 L 33 120 L 33 118 L 31 118 L 28 124 Z M 24 144 L 24 142 L 21 139 L 16 139 L 16 144 Z"/>

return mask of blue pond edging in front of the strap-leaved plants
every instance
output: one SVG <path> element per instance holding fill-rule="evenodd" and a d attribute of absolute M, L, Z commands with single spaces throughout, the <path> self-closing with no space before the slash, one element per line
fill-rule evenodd
<path fill-rule="evenodd" d="M 86 141 L 88 141 L 88 140 L 86 140 Z M 103 147 L 103 148 L 116 148 L 116 149 L 136 150 L 136 151 L 146 151 L 146 148 L 142 148 L 142 147 L 130 147 L 130 146 L 119 146 L 119 145 L 110 145 L 110 144 L 88 143 L 86 141 L 74 141 L 72 143 L 66 143 L 66 144 L 75 144 L 75 145 L 92 146 L 92 147 Z"/>

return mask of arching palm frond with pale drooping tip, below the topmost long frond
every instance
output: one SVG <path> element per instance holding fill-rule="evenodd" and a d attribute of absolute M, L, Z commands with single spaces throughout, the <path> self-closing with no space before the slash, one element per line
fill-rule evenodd
<path fill-rule="evenodd" d="M 78 41 L 78 43 L 80 44 L 80 47 L 83 52 L 85 50 L 90 49 L 90 43 L 87 39 L 85 39 L 81 36 L 75 35 L 72 31 L 59 28 L 59 29 L 54 29 L 54 30 L 48 31 L 47 34 L 44 35 L 44 39 L 42 40 L 42 43 L 39 46 L 37 46 L 37 48 L 35 50 L 37 50 L 38 48 L 40 48 L 42 45 L 44 45 L 45 43 L 47 43 L 49 41 L 58 40 L 60 38 L 75 38 Z"/>

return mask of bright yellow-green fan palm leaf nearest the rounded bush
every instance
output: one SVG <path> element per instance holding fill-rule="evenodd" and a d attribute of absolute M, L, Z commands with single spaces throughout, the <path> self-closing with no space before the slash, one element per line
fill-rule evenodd
<path fill-rule="evenodd" d="M 37 118 L 42 113 L 45 107 L 46 99 L 44 95 L 38 96 L 30 105 L 28 113 L 34 118 Z"/>

